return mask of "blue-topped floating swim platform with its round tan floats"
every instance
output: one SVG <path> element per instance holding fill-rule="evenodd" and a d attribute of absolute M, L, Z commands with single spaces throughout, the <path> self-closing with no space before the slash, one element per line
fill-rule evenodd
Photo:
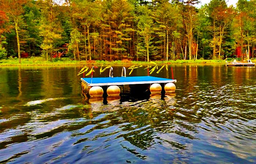
<path fill-rule="evenodd" d="M 177 82 L 174 79 L 152 76 L 81 78 L 81 81 L 83 93 L 88 97 L 102 97 L 103 94 L 119 96 L 119 86 L 123 85 L 138 86 L 139 88 L 146 86 L 146 90 L 151 94 L 161 94 L 162 91 L 173 93 L 176 90 L 174 83 Z"/>

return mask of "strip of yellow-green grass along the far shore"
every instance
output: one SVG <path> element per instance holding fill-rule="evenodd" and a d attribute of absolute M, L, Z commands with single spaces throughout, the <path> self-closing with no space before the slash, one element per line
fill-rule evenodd
<path fill-rule="evenodd" d="M 169 60 L 169 61 L 154 61 L 157 64 L 214 64 L 225 63 L 223 60 Z M 103 61 L 103 60 L 82 60 L 77 61 L 70 58 L 54 58 L 51 61 L 45 61 L 42 57 L 32 57 L 21 59 L 19 64 L 18 58 L 0 60 L 0 66 L 53 66 L 53 65 L 147 65 L 148 62 L 136 62 L 130 60 L 116 60 L 116 61 Z"/>

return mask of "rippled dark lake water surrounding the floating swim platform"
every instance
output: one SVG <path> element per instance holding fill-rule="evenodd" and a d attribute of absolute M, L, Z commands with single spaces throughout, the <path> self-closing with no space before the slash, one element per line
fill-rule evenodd
<path fill-rule="evenodd" d="M 0 163 L 255 164 L 255 67 L 172 67 L 175 93 L 105 102 L 81 95 L 82 67 L 1 67 Z"/>

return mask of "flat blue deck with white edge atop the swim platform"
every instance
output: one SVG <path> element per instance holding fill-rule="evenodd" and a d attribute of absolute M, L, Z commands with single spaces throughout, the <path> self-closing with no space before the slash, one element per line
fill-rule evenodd
<path fill-rule="evenodd" d="M 173 79 L 152 77 L 152 76 L 139 76 L 139 77 L 99 77 L 93 78 L 81 78 L 81 80 L 87 83 L 89 86 L 103 86 L 103 85 L 128 85 L 128 84 L 142 84 L 142 83 L 168 83 L 176 82 Z"/>

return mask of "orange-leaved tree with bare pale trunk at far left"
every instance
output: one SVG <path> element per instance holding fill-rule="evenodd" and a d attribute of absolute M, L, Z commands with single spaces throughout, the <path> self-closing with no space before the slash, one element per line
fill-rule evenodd
<path fill-rule="evenodd" d="M 19 23 L 22 20 L 22 15 L 24 13 L 23 6 L 27 3 L 27 0 L 1 0 L 0 9 L 8 14 L 11 20 L 14 21 L 15 31 L 16 31 L 16 39 L 18 45 L 18 57 L 19 63 L 21 63 L 20 59 L 20 39 L 19 39 Z"/>

